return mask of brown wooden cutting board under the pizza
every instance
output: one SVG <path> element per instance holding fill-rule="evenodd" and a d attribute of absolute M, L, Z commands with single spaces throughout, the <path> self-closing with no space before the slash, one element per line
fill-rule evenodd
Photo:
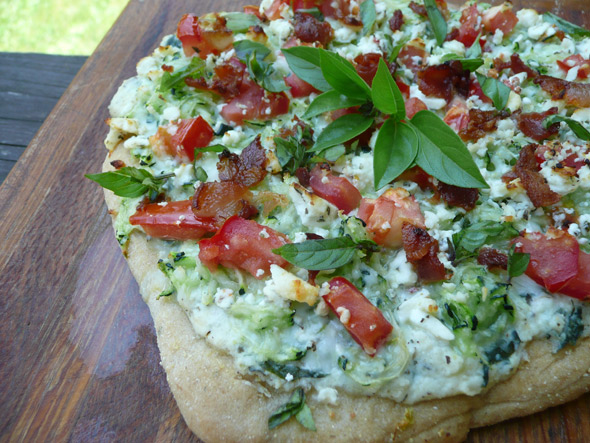
<path fill-rule="evenodd" d="M 1 441 L 195 439 L 168 389 L 102 192 L 83 174 L 100 170 L 107 106 L 135 63 L 183 13 L 245 3 L 132 0 L 0 187 Z M 590 27 L 587 0 L 515 4 Z M 589 400 L 478 429 L 469 440 L 583 441 Z"/>

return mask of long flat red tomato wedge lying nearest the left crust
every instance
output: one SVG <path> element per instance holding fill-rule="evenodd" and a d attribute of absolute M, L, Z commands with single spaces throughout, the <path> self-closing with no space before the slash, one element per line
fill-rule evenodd
<path fill-rule="evenodd" d="M 148 203 L 129 217 L 129 223 L 140 225 L 147 235 L 167 240 L 198 240 L 215 232 L 213 217 L 196 217 L 190 200 Z"/>

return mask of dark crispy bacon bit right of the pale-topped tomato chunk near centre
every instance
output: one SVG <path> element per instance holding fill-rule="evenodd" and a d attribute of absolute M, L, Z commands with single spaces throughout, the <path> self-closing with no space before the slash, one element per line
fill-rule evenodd
<path fill-rule="evenodd" d="M 445 267 L 437 256 L 438 240 L 432 238 L 426 229 L 404 222 L 402 241 L 407 259 L 416 265 L 418 277 L 422 281 L 445 279 Z"/>

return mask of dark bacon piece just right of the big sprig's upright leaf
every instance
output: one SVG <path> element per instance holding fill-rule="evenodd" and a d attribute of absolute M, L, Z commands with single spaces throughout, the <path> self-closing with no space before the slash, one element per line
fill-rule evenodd
<path fill-rule="evenodd" d="M 469 71 L 458 60 L 442 65 L 428 66 L 418 71 L 418 87 L 426 95 L 444 98 L 450 102 L 455 94 L 469 94 Z"/>

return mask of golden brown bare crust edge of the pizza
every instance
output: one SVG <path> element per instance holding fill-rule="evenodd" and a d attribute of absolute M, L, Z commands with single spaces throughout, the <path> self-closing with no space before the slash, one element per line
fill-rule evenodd
<path fill-rule="evenodd" d="M 110 162 L 134 160 L 122 144 L 107 156 Z M 120 199 L 105 191 L 116 213 Z M 590 390 L 590 338 L 575 347 L 551 353 L 548 342 L 529 344 L 529 361 L 508 380 L 478 397 L 452 398 L 403 405 L 377 397 L 340 392 L 338 405 L 307 402 L 317 432 L 295 420 L 269 431 L 268 417 L 288 397 L 273 392 L 266 397 L 255 384 L 236 373 L 233 359 L 196 336 L 182 308 L 167 299 L 156 300 L 165 285 L 157 267 L 157 253 L 141 233 L 131 235 L 129 267 L 149 306 L 168 383 L 189 428 L 205 441 L 462 441 L 470 428 L 524 416 L 567 402 Z"/>

